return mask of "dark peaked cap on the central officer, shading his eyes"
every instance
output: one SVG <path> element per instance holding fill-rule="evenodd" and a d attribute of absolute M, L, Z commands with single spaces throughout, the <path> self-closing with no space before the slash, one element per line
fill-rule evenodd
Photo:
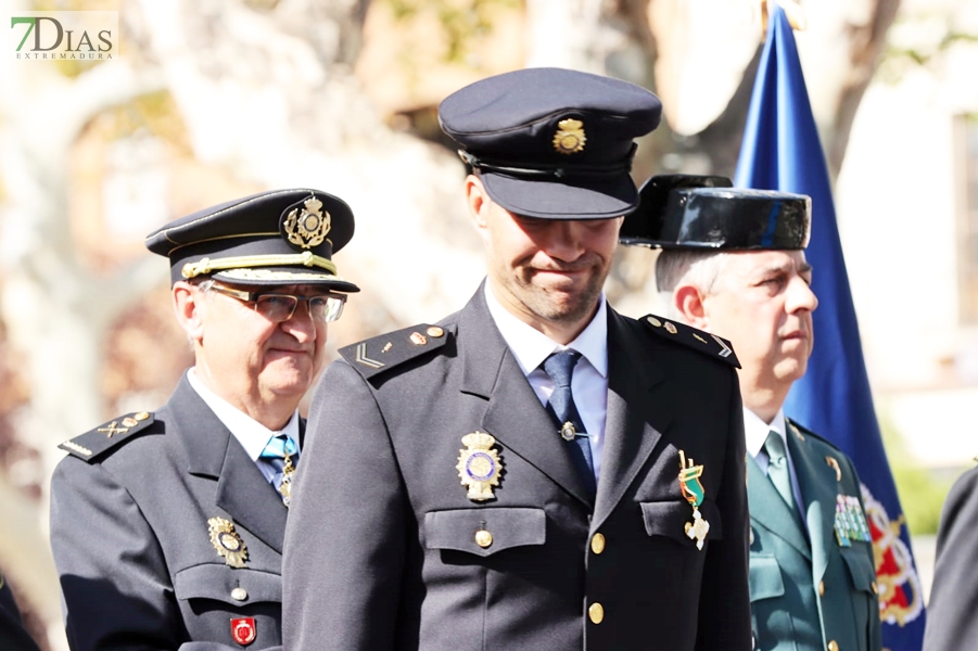
<path fill-rule="evenodd" d="M 477 81 L 439 106 L 442 129 L 511 213 L 607 219 L 638 205 L 634 139 L 659 125 L 648 90 L 610 77 L 528 68 Z"/>

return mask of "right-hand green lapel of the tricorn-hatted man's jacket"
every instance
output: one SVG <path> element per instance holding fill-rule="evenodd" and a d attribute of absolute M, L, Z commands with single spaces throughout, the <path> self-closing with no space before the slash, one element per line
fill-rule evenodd
<path fill-rule="evenodd" d="M 790 422 L 787 432 L 788 450 L 791 452 L 795 474 L 798 475 L 798 487 L 804 501 L 805 521 L 812 540 L 813 576 L 815 580 L 820 580 L 828 567 L 829 551 L 835 546 L 833 525 L 836 518 L 836 473 Z"/>

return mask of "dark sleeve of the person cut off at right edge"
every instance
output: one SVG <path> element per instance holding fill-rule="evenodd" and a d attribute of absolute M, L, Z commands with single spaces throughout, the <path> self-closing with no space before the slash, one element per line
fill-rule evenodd
<path fill-rule="evenodd" d="M 978 468 L 954 483 L 937 534 L 924 651 L 978 649 Z"/>

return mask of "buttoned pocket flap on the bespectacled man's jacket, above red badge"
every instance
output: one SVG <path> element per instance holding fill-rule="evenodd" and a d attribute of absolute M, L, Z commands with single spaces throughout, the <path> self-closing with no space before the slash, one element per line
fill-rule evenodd
<path fill-rule="evenodd" d="M 236 591 L 242 588 L 244 592 Z M 232 569 L 217 563 L 194 565 L 174 576 L 177 599 L 215 599 L 240 607 L 256 601 L 282 601 L 282 577 L 270 572 Z M 231 592 L 244 599 L 236 599 Z"/>

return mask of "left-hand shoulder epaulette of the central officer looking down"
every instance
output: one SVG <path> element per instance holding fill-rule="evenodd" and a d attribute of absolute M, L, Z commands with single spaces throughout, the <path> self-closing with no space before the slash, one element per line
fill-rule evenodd
<path fill-rule="evenodd" d="M 340 355 L 369 380 L 419 355 L 437 350 L 447 341 L 448 332 L 444 328 L 421 323 L 340 348 Z"/>

